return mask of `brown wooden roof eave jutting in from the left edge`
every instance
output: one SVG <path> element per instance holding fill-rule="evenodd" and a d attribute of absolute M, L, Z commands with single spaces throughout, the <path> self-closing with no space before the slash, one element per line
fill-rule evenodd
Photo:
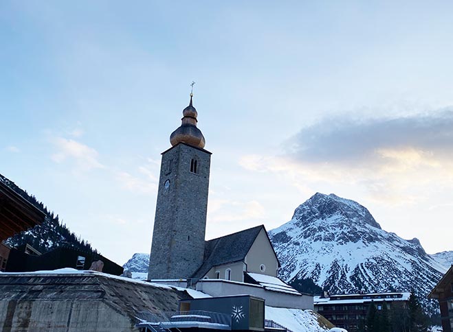
<path fill-rule="evenodd" d="M 10 186 L 0 174 L 0 241 L 44 221 L 45 213 Z"/>

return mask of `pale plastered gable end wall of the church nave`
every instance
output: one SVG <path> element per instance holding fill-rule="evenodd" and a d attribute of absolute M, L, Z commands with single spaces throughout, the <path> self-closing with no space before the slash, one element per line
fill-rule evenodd
<path fill-rule="evenodd" d="M 245 263 L 247 272 L 277 276 L 278 260 L 264 229 L 258 233 L 252 247 L 247 252 Z M 265 271 L 260 269 L 261 264 L 265 265 Z"/>

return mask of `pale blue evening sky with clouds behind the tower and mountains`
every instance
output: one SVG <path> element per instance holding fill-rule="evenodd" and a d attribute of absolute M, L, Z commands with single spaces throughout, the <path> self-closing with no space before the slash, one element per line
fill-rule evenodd
<path fill-rule="evenodd" d="M 453 250 L 451 1 L 0 2 L 0 173 L 105 257 L 149 252 L 195 81 L 207 239 L 316 192 Z"/>

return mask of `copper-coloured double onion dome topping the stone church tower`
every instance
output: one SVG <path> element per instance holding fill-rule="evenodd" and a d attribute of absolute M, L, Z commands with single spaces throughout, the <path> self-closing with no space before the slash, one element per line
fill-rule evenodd
<path fill-rule="evenodd" d="M 189 106 L 184 108 L 182 111 L 184 116 L 181 119 L 181 126 L 177 128 L 170 135 L 170 143 L 172 146 L 177 145 L 177 143 L 186 143 L 195 147 L 203 148 L 206 141 L 201 134 L 201 130 L 197 128 L 197 110 L 192 106 L 192 93 L 190 93 L 190 103 Z"/>

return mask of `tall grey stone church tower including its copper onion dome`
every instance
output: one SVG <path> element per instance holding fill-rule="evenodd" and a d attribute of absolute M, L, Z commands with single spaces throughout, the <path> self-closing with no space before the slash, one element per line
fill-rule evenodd
<path fill-rule="evenodd" d="M 162 152 L 148 279 L 190 278 L 203 263 L 211 153 L 192 93 L 181 121 Z"/>

